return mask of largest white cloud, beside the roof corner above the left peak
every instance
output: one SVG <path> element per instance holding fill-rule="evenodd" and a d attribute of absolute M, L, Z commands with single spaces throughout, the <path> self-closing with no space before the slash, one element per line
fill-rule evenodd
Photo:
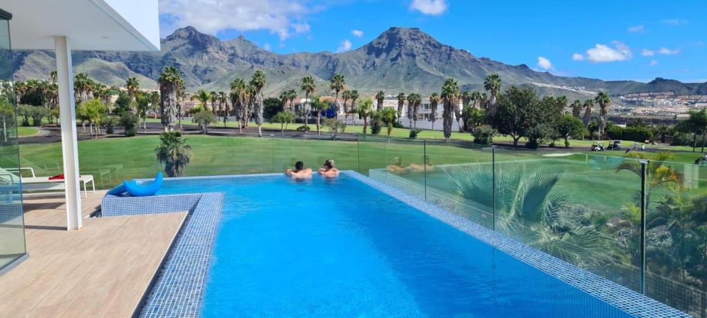
<path fill-rule="evenodd" d="M 160 31 L 169 35 L 192 25 L 200 32 L 268 30 L 280 40 L 309 32 L 304 22 L 317 11 L 306 0 L 159 0 Z"/>

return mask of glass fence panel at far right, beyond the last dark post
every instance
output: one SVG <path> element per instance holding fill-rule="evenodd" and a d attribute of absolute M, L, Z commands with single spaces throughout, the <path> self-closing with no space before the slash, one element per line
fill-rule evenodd
<path fill-rule="evenodd" d="M 707 317 L 707 166 L 650 160 L 645 194 L 646 295 Z"/>

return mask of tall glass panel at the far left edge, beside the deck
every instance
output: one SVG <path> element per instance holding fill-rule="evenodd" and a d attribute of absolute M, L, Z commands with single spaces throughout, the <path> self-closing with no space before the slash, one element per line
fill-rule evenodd
<path fill-rule="evenodd" d="M 0 269 L 25 254 L 8 20 L 0 19 Z"/>

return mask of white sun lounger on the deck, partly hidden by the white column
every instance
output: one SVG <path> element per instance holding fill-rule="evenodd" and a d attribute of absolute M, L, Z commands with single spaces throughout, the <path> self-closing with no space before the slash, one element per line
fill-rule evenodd
<path fill-rule="evenodd" d="M 32 174 L 32 177 L 22 177 L 21 171 L 26 170 Z M 54 191 L 63 191 L 66 186 L 64 185 L 64 179 L 49 179 L 49 177 L 37 177 L 35 175 L 35 170 L 32 167 L 20 167 L 20 168 L 0 168 L 0 179 L 4 183 L 16 184 L 18 181 L 22 184 L 23 192 L 32 193 L 49 193 Z M 93 175 L 79 175 L 78 182 L 83 184 L 83 197 L 88 198 L 88 189 L 86 184 L 90 182 L 91 193 L 95 193 L 95 182 L 93 182 Z"/>

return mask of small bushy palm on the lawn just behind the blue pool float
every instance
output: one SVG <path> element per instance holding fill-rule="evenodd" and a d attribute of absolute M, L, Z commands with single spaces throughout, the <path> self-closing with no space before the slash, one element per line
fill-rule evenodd
<path fill-rule="evenodd" d="M 168 177 L 182 177 L 187 165 L 192 161 L 192 146 L 179 131 L 165 132 L 160 136 L 160 143 L 155 148 L 155 155 L 165 165 Z"/>

